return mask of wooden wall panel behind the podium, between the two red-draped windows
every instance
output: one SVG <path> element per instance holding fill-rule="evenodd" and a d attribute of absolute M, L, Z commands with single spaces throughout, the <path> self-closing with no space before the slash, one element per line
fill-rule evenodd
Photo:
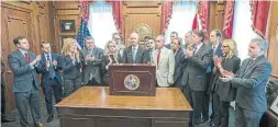
<path fill-rule="evenodd" d="M 162 2 L 158 1 L 136 1 L 123 2 L 123 36 L 124 43 L 127 44 L 130 34 L 136 26 L 151 28 L 151 36 L 155 37 L 160 34 L 162 23 Z M 143 36 L 140 37 L 143 41 Z M 129 44 L 127 44 L 129 45 Z"/>

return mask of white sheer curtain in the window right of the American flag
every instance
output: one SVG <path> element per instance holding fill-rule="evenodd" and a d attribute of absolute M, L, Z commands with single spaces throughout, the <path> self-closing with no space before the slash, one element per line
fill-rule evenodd
<path fill-rule="evenodd" d="M 97 47 L 104 49 L 107 42 L 112 39 L 112 34 L 118 32 L 112 15 L 112 5 L 105 3 L 105 1 L 92 3 L 90 5 L 88 27 Z"/>

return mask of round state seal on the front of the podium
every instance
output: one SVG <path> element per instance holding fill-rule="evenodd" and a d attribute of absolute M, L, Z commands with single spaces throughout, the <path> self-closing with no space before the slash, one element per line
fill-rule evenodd
<path fill-rule="evenodd" d="M 135 74 L 127 74 L 124 78 L 124 86 L 129 90 L 136 90 L 140 86 L 140 79 Z"/>

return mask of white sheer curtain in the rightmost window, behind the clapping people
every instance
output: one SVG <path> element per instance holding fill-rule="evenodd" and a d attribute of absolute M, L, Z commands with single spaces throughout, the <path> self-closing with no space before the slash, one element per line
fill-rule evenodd
<path fill-rule="evenodd" d="M 233 39 L 237 44 L 238 57 L 248 57 L 248 44 L 252 38 L 259 37 L 252 30 L 249 0 L 235 1 Z"/>

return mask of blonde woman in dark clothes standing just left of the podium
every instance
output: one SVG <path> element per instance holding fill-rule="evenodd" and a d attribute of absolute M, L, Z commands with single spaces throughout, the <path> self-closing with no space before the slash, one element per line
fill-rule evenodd
<path fill-rule="evenodd" d="M 116 50 L 116 44 L 114 41 L 109 41 L 105 45 L 104 57 L 102 59 L 102 72 L 103 83 L 109 84 L 109 66 L 112 64 L 119 64 L 119 51 Z"/>

